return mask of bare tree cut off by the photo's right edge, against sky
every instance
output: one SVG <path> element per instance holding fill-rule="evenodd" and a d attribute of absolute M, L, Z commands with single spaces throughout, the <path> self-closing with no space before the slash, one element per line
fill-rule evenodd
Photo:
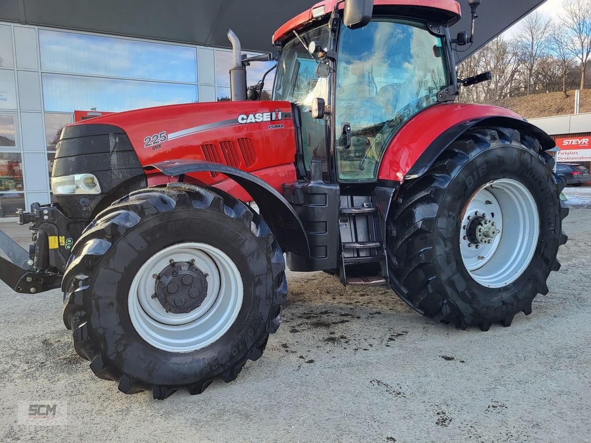
<path fill-rule="evenodd" d="M 591 1 L 568 0 L 561 17 L 563 30 L 567 32 L 566 48 L 581 63 L 581 89 L 585 87 L 585 71 L 591 54 Z"/>

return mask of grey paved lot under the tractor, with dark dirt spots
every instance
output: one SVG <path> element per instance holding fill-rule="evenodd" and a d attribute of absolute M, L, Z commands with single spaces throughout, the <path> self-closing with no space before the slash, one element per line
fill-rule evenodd
<path fill-rule="evenodd" d="M 27 241 L 22 228 L 0 229 Z M 59 291 L 0 284 L 0 441 L 589 441 L 591 210 L 571 210 L 566 230 L 550 294 L 511 328 L 458 331 L 387 289 L 290 273 L 262 359 L 235 382 L 164 401 L 90 372 Z M 19 401 L 67 402 L 67 425 L 18 425 Z"/>

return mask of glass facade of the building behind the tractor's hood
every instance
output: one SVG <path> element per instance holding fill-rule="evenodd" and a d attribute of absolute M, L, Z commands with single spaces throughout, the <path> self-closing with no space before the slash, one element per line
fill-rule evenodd
<path fill-rule="evenodd" d="M 248 84 L 273 65 L 249 66 Z M 74 110 L 229 100 L 231 67 L 228 48 L 0 22 L 0 219 L 54 200 L 56 144 Z M 264 99 L 273 80 L 271 71 Z"/>

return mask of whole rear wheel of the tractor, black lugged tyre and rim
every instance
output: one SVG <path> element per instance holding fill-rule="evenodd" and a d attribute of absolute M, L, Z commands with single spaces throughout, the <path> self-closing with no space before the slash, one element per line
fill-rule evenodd
<path fill-rule="evenodd" d="M 567 240 L 561 222 L 569 210 L 559 198 L 564 181 L 553 174 L 553 164 L 553 158 L 541 151 L 535 138 L 514 129 L 472 129 L 453 142 L 426 174 L 402 184 L 397 203 L 390 211 L 387 252 L 389 273 L 395 279 L 392 288 L 400 288 L 403 293 L 398 295 L 421 314 L 463 329 L 478 325 L 488 330 L 496 321 L 509 326 L 518 312 L 530 314 L 534 297 L 548 293 L 548 275 L 560 269 L 556 259 L 558 246 Z M 465 223 L 473 198 L 487 189 L 499 195 L 494 184 L 489 187 L 493 181 L 512 184 L 514 191 L 509 193 L 518 196 L 515 201 L 522 201 L 522 206 L 517 205 L 522 217 L 513 214 L 511 219 L 508 212 L 502 216 L 517 225 L 506 223 L 505 236 L 501 232 L 499 239 L 491 237 L 499 242 L 493 255 L 511 250 L 511 245 L 501 249 L 506 239 L 516 242 L 515 249 L 521 244 L 520 239 L 528 237 L 530 243 L 524 243 L 525 252 L 517 255 L 514 266 L 499 264 L 498 272 L 489 269 L 487 273 L 482 271 L 486 265 L 474 271 L 478 263 L 470 263 L 463 256 L 462 242 L 475 234 L 465 229 L 471 229 Z M 527 203 L 527 196 L 531 196 L 531 203 Z M 485 201 L 482 204 L 493 203 Z M 532 217 L 525 215 L 528 208 L 537 208 Z M 482 220 L 478 227 L 486 230 L 491 226 L 490 220 L 486 221 L 488 225 Z M 539 234 L 532 232 L 534 227 Z M 478 244 L 485 250 L 480 240 L 472 246 Z M 490 259 L 478 254 L 476 259 L 480 257 Z M 503 274 L 502 269 L 508 271 Z M 485 276 L 477 275 L 478 272 Z M 495 275 L 500 277 L 495 279 Z"/>

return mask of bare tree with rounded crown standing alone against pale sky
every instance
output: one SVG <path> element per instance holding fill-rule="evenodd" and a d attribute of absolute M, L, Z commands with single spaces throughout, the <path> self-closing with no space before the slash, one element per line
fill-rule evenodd
<path fill-rule="evenodd" d="M 526 72 L 526 92 L 531 94 L 532 77 L 541 58 L 550 46 L 551 19 L 540 12 L 533 12 L 521 21 L 516 37 L 519 54 Z"/>

